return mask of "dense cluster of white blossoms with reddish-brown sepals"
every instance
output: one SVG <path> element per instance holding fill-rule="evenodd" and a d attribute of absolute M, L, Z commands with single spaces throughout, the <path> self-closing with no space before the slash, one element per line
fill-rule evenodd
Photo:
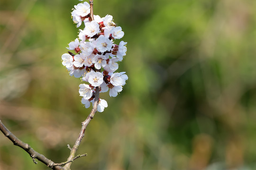
<path fill-rule="evenodd" d="M 82 81 L 88 82 L 79 85 L 85 108 L 89 108 L 91 103 L 93 105 L 96 87 L 100 88 L 100 93 L 109 91 L 110 97 L 116 97 L 128 79 L 125 72 L 115 72 L 127 51 L 127 42 L 120 41 L 119 45 L 114 42 L 124 36 L 122 28 L 113 22 L 112 16 L 92 17 L 90 11 L 88 2 L 74 6 L 71 13 L 73 22 L 77 27 L 83 24 L 85 27 L 79 30 L 79 38 L 66 47 L 70 51 L 62 55 L 62 64 L 69 75 L 82 77 Z M 107 106 L 104 99 L 99 99 L 97 110 L 102 112 Z"/>

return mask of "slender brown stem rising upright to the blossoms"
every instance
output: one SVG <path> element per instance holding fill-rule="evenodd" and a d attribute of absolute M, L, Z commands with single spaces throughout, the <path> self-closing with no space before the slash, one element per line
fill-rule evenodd
<path fill-rule="evenodd" d="M 82 122 L 82 128 L 81 128 L 81 131 L 80 131 L 80 134 L 78 136 L 78 138 L 76 139 L 75 141 L 75 144 L 73 145 L 73 148 L 70 152 L 70 156 L 69 158 L 67 159 L 67 161 L 71 161 L 73 160 L 74 158 L 74 155 L 82 141 L 82 138 L 84 136 L 84 133 L 85 133 L 85 129 L 86 127 L 88 126 L 88 124 L 90 123 L 91 119 L 93 118 L 94 114 L 97 112 L 97 107 L 98 107 L 98 104 L 99 104 L 99 97 L 100 97 L 100 87 L 96 87 L 96 90 L 95 90 L 95 98 L 94 98 L 94 104 L 93 104 L 93 108 L 91 110 L 91 113 L 89 114 L 89 116 L 87 117 L 87 119 L 85 121 Z M 64 168 L 65 170 L 70 170 L 70 166 L 71 166 L 71 162 L 67 163 Z"/>

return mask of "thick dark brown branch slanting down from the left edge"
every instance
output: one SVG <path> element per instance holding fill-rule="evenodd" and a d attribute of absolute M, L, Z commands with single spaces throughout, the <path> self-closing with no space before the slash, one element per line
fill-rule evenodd
<path fill-rule="evenodd" d="M 53 161 L 47 159 L 44 155 L 38 153 L 37 151 L 35 151 L 33 148 L 30 147 L 29 144 L 26 144 L 24 142 L 22 142 L 20 139 L 18 139 L 15 135 L 13 135 L 7 127 L 4 126 L 4 124 L 2 123 L 2 121 L 0 120 L 0 130 L 2 131 L 2 133 L 8 137 L 14 145 L 17 145 L 19 147 L 21 147 L 22 149 L 24 149 L 32 158 L 32 160 L 34 161 L 34 163 L 37 164 L 37 162 L 35 161 L 35 159 L 37 159 L 38 161 L 43 162 L 44 164 L 46 164 L 48 167 L 50 167 L 51 164 L 55 164 Z M 51 167 L 53 170 L 64 170 L 63 167 L 61 166 L 55 166 L 55 167 Z"/>

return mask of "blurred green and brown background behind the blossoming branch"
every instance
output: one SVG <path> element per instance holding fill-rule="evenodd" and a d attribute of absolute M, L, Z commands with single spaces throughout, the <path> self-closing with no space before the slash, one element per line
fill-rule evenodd
<path fill-rule="evenodd" d="M 0 119 L 55 162 L 81 122 L 61 63 L 78 0 L 0 0 Z M 129 79 L 86 129 L 73 170 L 255 170 L 256 1 L 94 0 L 122 27 Z M 80 29 L 83 27 L 81 26 Z M 46 170 L 0 134 L 1 170 Z"/>

